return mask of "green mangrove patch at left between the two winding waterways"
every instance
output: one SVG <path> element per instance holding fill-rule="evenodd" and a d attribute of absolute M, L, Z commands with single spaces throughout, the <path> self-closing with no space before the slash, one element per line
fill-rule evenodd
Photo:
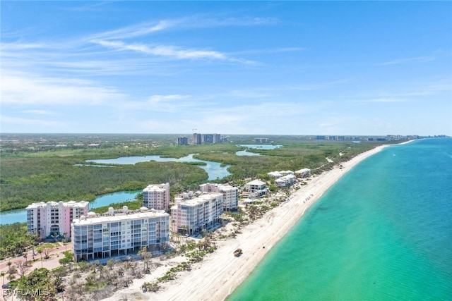
<path fill-rule="evenodd" d="M 83 162 L 76 156 L 1 157 L 0 210 L 42 201 L 90 201 L 109 192 L 141 190 L 149 183 L 168 182 L 173 189 L 182 190 L 208 178 L 197 166 L 175 162 L 150 161 L 112 168 L 74 166 Z"/>

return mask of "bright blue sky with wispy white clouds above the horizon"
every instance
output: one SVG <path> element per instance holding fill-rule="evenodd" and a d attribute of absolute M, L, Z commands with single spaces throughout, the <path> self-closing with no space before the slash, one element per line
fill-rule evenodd
<path fill-rule="evenodd" d="M 1 1 L 1 133 L 452 135 L 451 1 Z"/>

